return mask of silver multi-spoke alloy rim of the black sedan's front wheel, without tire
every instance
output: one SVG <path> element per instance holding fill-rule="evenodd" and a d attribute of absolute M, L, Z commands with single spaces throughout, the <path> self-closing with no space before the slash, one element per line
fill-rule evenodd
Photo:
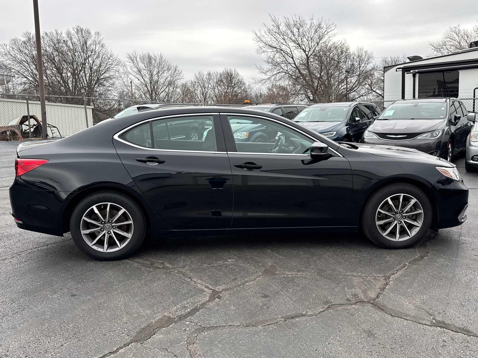
<path fill-rule="evenodd" d="M 391 241 L 412 238 L 422 227 L 423 219 L 422 205 L 408 194 L 395 194 L 383 200 L 375 215 L 379 232 Z"/>

